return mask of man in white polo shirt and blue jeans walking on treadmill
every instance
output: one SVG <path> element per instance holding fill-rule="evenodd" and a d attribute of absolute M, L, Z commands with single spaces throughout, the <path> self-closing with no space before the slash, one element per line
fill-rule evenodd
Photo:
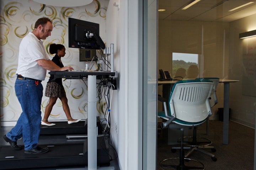
<path fill-rule="evenodd" d="M 65 71 L 73 70 L 66 66 L 60 68 L 49 60 L 41 41 L 51 35 L 52 21 L 39 18 L 34 30 L 28 33 L 20 43 L 18 68 L 16 71 L 15 93 L 21 104 L 22 113 L 14 128 L 3 136 L 15 150 L 21 150 L 17 140 L 23 138 L 25 153 L 39 154 L 48 152 L 49 148 L 37 146 L 41 124 L 41 101 L 43 96 L 42 80 L 46 77 L 46 70 Z"/>

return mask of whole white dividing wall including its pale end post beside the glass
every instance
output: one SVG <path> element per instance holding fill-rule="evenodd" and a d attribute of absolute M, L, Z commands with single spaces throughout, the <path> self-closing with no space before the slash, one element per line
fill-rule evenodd
<path fill-rule="evenodd" d="M 120 169 L 142 169 L 142 1 L 119 1 L 119 10 L 110 0 L 107 11 L 107 44 L 116 43 L 115 64 L 118 94 L 113 104 L 112 141 L 118 152 Z M 116 28 L 114 28 L 116 27 Z"/>

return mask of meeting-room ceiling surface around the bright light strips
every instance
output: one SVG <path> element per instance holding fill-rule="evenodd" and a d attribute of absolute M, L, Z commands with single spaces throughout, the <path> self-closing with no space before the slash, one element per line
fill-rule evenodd
<path fill-rule="evenodd" d="M 158 13 L 159 19 L 230 22 L 256 13 L 256 10 L 250 10 L 250 8 L 256 6 L 256 0 L 201 0 L 187 10 L 181 10 L 181 8 L 190 1 L 191 0 L 158 0 L 159 8 L 166 9 L 166 11 Z M 240 10 L 228 12 L 231 8 L 246 4 L 250 1 L 254 1 L 255 3 L 243 7 Z M 237 16 L 236 13 L 240 13 L 240 17 Z"/>

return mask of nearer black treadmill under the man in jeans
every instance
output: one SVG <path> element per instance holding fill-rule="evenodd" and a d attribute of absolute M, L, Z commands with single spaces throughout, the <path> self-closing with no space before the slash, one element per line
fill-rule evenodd
<path fill-rule="evenodd" d="M 62 135 L 65 138 L 64 135 Z M 43 140 L 42 140 L 43 141 Z M 54 140 L 53 140 L 54 141 Z M 107 140 L 106 140 L 107 141 Z M 21 142 L 19 140 L 18 142 Z M 66 143 L 52 144 L 38 143 L 40 147 L 49 147 L 49 151 L 43 154 L 25 154 L 24 149 L 16 151 L 10 146 L 0 147 L 0 170 L 11 170 L 17 168 L 42 168 L 42 167 L 62 167 L 62 166 L 87 166 L 87 138 L 78 140 L 72 138 Z M 18 145 L 20 145 L 18 143 Z M 104 135 L 97 136 L 97 166 L 109 166 L 110 157 L 108 145 Z"/>

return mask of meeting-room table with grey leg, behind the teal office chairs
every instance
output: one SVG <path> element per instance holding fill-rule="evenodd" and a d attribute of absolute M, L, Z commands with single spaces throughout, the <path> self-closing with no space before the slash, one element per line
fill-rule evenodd
<path fill-rule="evenodd" d="M 223 101 L 223 144 L 228 145 L 228 130 L 229 130 L 229 84 L 238 82 L 239 80 L 220 79 L 219 83 L 224 83 L 224 101 Z M 162 85 L 162 95 L 164 98 L 169 98 L 171 86 L 177 81 L 158 81 L 158 85 Z"/>

